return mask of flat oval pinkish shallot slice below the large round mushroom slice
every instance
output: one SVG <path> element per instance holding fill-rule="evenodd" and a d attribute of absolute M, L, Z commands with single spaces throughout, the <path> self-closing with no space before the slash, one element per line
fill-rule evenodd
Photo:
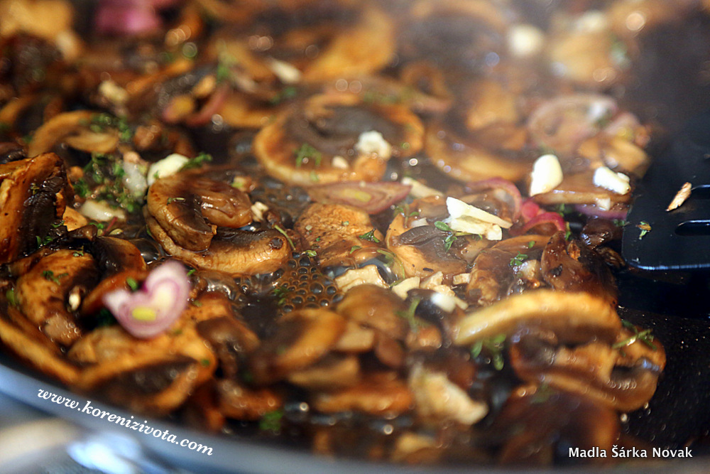
<path fill-rule="evenodd" d="M 308 195 L 317 203 L 346 204 L 377 214 L 406 198 L 411 189 L 400 183 L 351 181 L 312 186 Z"/>

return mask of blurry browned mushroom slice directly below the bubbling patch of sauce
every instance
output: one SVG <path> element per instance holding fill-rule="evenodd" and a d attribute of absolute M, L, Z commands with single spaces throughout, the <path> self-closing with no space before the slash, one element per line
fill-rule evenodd
<path fill-rule="evenodd" d="M 275 333 L 251 353 L 249 365 L 258 383 L 269 383 L 320 360 L 338 342 L 346 321 L 327 309 L 302 309 L 282 316 Z"/>

